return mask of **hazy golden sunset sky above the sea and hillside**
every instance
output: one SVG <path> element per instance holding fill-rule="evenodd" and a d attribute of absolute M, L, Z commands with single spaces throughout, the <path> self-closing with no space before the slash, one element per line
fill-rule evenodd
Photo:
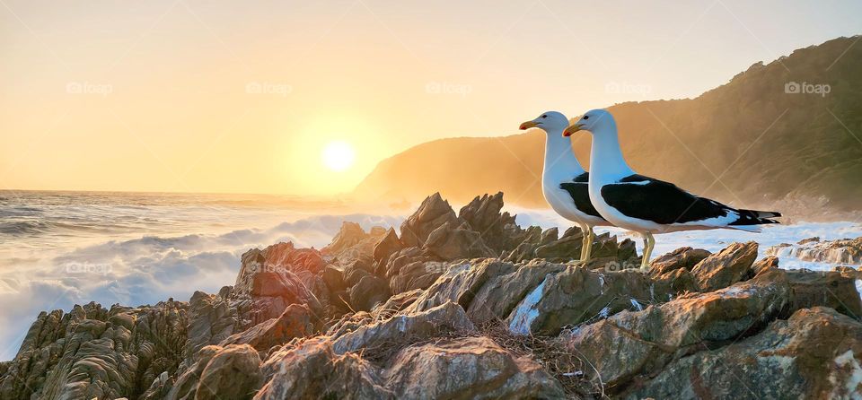
<path fill-rule="evenodd" d="M 462 3 L 0 0 L 0 189 L 346 192 L 414 144 L 696 96 L 862 28 L 851 1 Z"/>

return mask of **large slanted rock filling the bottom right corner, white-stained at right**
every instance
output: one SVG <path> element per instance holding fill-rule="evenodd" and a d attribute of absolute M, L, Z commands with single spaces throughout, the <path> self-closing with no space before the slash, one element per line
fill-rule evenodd
<path fill-rule="evenodd" d="M 862 325 L 832 309 L 800 309 L 758 335 L 698 352 L 627 395 L 641 398 L 858 398 Z"/>

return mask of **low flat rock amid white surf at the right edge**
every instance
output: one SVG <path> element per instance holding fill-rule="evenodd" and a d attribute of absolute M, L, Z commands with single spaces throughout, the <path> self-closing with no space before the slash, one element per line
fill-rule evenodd
<path fill-rule="evenodd" d="M 781 244 L 766 249 L 776 257 L 796 257 L 803 261 L 830 264 L 862 264 L 862 237 L 820 241 L 820 238 L 802 240 L 796 245 Z"/>

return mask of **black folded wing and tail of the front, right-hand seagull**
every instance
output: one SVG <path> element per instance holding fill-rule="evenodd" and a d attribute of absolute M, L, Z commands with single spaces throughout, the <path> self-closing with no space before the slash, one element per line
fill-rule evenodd
<path fill-rule="evenodd" d="M 604 201 L 631 218 L 661 224 L 700 222 L 734 214 L 728 225 L 757 225 L 777 223 L 766 217 L 780 213 L 737 210 L 715 200 L 694 196 L 673 183 L 630 175 L 620 182 L 602 187 Z"/>

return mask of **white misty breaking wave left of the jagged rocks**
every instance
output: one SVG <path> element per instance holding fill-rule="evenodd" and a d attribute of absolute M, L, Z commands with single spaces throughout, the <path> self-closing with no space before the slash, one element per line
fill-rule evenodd
<path fill-rule="evenodd" d="M 216 292 L 233 284 L 242 253 L 279 241 L 321 248 L 342 222 L 398 226 L 399 216 L 371 214 L 308 215 L 269 228 L 230 230 L 217 234 L 145 235 L 112 239 L 55 252 L 12 254 L 14 268 L 0 270 L 0 302 L 16 304 L 0 312 L 0 360 L 14 356 L 35 317 L 43 310 L 71 309 L 91 300 L 108 307 L 119 303 L 138 306 L 175 298 L 188 300 L 194 291 Z M 49 224 L 17 225 L 13 230 L 45 230 Z M 54 227 L 56 228 L 56 227 Z"/>

